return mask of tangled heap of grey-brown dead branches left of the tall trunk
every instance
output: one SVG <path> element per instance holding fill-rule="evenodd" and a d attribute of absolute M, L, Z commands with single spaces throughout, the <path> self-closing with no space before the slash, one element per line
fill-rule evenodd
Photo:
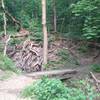
<path fill-rule="evenodd" d="M 19 51 L 17 48 L 14 49 L 14 54 L 11 54 L 10 56 L 14 59 L 16 66 L 25 72 L 40 71 L 43 62 L 40 54 L 41 48 L 30 40 L 25 41 L 21 45 L 22 48 Z"/>

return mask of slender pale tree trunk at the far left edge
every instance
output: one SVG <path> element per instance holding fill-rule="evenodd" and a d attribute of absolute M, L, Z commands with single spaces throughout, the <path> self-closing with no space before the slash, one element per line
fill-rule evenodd
<path fill-rule="evenodd" d="M 2 2 L 2 8 L 5 9 L 4 1 L 1 0 L 1 2 Z M 5 14 L 5 12 L 3 13 L 3 19 L 4 19 L 4 34 L 5 34 L 5 37 L 6 37 L 6 35 L 7 35 L 7 21 L 6 21 L 6 14 Z M 4 56 L 6 55 L 6 51 L 7 51 L 7 45 L 5 43 L 5 46 L 4 46 Z"/>

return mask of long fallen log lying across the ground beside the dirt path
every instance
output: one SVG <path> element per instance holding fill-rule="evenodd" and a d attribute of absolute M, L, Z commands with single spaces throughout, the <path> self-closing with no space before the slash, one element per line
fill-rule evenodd
<path fill-rule="evenodd" d="M 77 70 L 74 69 L 63 69 L 63 70 L 53 70 L 53 71 L 41 71 L 26 74 L 28 77 L 42 77 L 42 76 L 57 76 L 66 74 L 76 74 Z"/>

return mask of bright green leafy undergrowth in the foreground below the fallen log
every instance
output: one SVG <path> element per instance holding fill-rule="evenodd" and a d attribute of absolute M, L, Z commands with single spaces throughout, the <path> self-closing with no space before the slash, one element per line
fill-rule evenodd
<path fill-rule="evenodd" d="M 37 100 L 94 100 L 94 92 L 91 87 L 89 91 L 83 91 L 81 88 L 65 87 L 57 79 L 42 78 L 35 84 L 26 87 L 22 95 L 24 97 L 36 97 Z M 91 91 L 90 91 L 91 89 Z"/>

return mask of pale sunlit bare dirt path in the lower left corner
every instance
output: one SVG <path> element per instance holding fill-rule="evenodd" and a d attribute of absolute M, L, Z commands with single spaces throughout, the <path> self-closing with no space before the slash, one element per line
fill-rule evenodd
<path fill-rule="evenodd" d="M 0 100 L 26 100 L 19 97 L 20 91 L 33 82 L 32 78 L 14 75 L 12 78 L 0 81 Z"/>

